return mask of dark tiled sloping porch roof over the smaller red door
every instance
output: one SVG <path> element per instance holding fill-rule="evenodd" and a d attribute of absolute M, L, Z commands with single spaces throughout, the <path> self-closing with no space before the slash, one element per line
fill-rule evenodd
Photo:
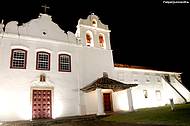
<path fill-rule="evenodd" d="M 92 83 L 83 87 L 80 90 L 87 93 L 96 90 L 96 88 L 101 88 L 101 89 L 112 89 L 115 92 L 115 91 L 125 90 L 127 88 L 134 86 L 137 86 L 137 84 L 125 84 L 120 81 L 103 76 L 101 78 L 96 79 L 95 81 L 93 81 Z"/>

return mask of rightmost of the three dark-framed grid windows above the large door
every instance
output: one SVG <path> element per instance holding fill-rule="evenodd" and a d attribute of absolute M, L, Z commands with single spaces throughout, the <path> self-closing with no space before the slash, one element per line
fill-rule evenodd
<path fill-rule="evenodd" d="M 71 72 L 71 56 L 68 54 L 59 54 L 59 71 Z"/>

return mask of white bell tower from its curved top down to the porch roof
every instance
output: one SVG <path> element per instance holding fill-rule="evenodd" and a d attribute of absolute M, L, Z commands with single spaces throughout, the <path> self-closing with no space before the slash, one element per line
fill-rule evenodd
<path fill-rule="evenodd" d="M 82 84 L 88 84 L 101 77 L 103 72 L 112 76 L 114 65 L 110 32 L 108 25 L 103 24 L 94 13 L 88 15 L 87 19 L 78 20 L 75 35 L 82 45 L 80 48 Z"/>

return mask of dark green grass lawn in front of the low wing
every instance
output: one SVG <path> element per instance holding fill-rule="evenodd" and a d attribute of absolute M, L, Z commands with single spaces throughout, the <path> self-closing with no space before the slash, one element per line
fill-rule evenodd
<path fill-rule="evenodd" d="M 169 126 L 190 126 L 190 104 L 138 109 L 135 112 L 116 113 L 103 118 L 105 121 L 128 122 L 137 124 L 163 124 Z"/>

